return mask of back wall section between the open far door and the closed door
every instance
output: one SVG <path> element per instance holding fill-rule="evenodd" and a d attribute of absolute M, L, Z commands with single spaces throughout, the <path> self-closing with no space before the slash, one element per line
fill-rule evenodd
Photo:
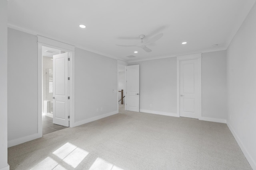
<path fill-rule="evenodd" d="M 140 111 L 177 113 L 176 57 L 129 63 L 135 64 L 140 65 Z"/>

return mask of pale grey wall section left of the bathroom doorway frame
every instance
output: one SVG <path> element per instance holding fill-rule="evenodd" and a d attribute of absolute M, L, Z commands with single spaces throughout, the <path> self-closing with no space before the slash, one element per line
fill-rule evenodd
<path fill-rule="evenodd" d="M 8 142 L 38 133 L 37 37 L 8 28 Z"/>

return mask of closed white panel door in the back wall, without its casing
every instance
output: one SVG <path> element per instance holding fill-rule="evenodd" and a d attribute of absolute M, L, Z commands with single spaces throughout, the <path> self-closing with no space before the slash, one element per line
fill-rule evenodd
<path fill-rule="evenodd" d="M 198 59 L 180 61 L 180 116 L 199 118 Z"/>

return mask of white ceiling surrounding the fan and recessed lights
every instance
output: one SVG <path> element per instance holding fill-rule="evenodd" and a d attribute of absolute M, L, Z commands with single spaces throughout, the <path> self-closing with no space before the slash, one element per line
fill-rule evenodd
<path fill-rule="evenodd" d="M 226 49 L 255 0 L 9 0 L 9 27 L 125 61 Z M 85 29 L 78 25 L 86 25 Z M 159 33 L 147 47 L 139 44 Z M 188 42 L 181 45 L 182 42 Z M 212 45 L 218 44 L 217 47 Z M 138 51 L 134 54 L 134 51 Z M 126 56 L 134 55 L 129 59 Z"/>

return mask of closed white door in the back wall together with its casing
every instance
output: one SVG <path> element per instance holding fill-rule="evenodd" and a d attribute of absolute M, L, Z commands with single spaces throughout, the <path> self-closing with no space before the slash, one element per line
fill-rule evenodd
<path fill-rule="evenodd" d="M 199 119 L 201 108 L 201 53 L 177 57 L 177 109 L 182 117 Z"/>

